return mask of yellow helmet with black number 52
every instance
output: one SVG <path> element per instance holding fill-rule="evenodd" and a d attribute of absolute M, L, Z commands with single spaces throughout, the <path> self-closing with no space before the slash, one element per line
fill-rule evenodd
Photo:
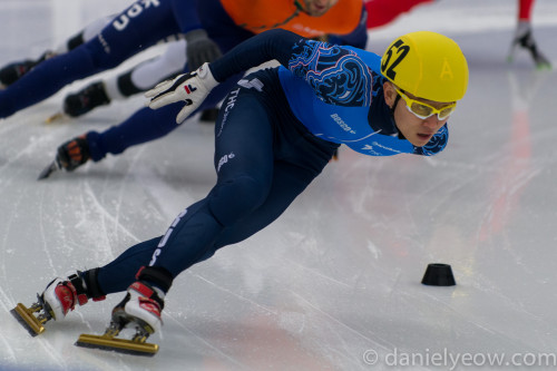
<path fill-rule="evenodd" d="M 459 46 L 430 31 L 394 40 L 381 57 L 381 74 L 418 98 L 442 102 L 462 99 L 468 86 L 468 64 Z"/>

